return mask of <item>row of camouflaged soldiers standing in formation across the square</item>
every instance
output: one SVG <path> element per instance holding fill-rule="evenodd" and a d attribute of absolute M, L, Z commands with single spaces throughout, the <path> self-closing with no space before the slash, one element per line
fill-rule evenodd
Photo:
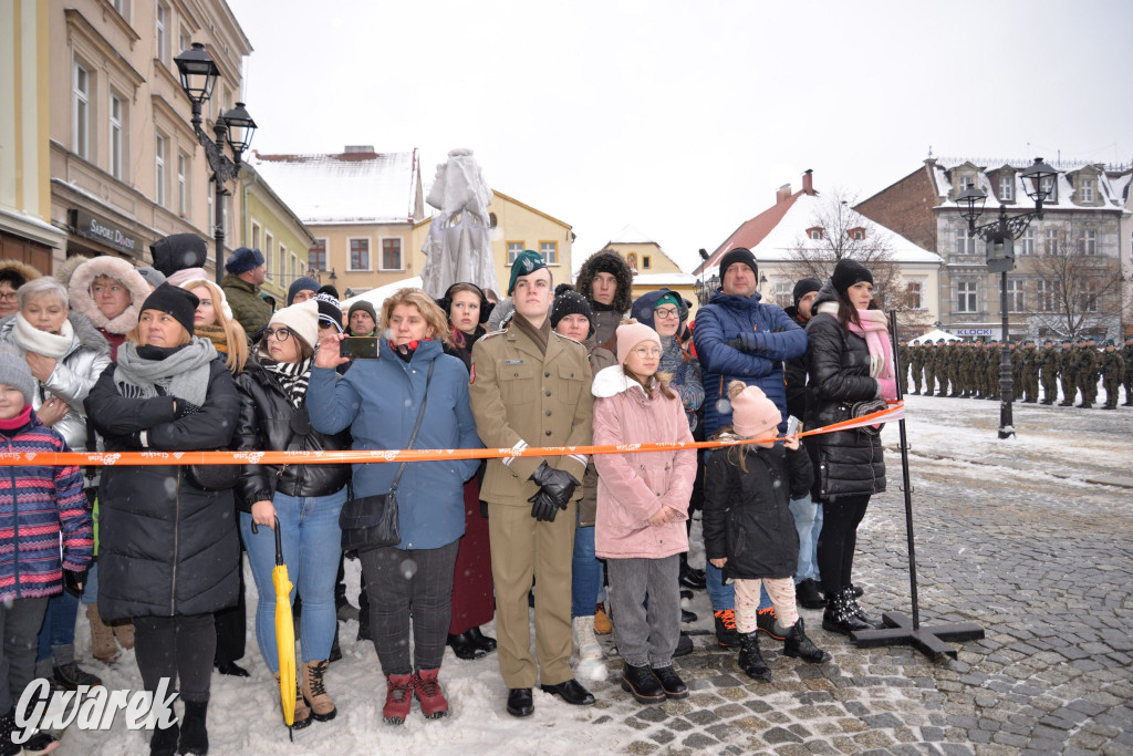
<path fill-rule="evenodd" d="M 923 383 L 926 397 L 998 399 L 999 347 L 996 339 L 926 341 L 902 346 L 901 364 L 911 368 L 912 393 L 921 393 Z M 1064 339 L 1060 346 L 1051 339 L 1046 339 L 1041 346 L 1033 339 L 1025 339 L 1011 341 L 1008 349 L 1013 393 L 1025 397 L 1023 404 L 1055 404 L 1060 381 L 1063 401 L 1059 407 L 1073 406 L 1081 393 L 1082 401 L 1077 406 L 1090 408 L 1098 400 L 1100 377 L 1106 389 L 1106 404 L 1101 409 L 1117 408 L 1117 391 L 1123 383 L 1123 406 L 1133 407 L 1133 335 L 1125 337 L 1125 345 L 1119 349 L 1113 339 L 1098 345 L 1092 338 L 1079 338 L 1073 342 Z"/>

